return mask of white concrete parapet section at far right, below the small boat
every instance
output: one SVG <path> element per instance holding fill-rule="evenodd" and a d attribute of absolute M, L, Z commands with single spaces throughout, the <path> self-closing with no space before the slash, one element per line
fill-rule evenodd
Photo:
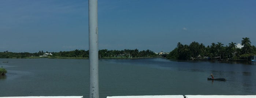
<path fill-rule="evenodd" d="M 185 95 L 185 98 L 256 98 L 256 95 Z"/>

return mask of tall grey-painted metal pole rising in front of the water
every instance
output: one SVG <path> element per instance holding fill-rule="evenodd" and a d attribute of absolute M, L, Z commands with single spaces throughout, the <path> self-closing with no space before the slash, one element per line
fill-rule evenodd
<path fill-rule="evenodd" d="M 99 50 L 98 50 L 98 5 L 97 0 L 89 0 L 89 65 L 90 97 L 99 98 Z"/>

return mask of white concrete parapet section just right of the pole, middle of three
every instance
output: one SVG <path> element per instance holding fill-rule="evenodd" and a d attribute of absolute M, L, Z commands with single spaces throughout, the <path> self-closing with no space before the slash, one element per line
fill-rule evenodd
<path fill-rule="evenodd" d="M 184 98 L 183 95 L 108 96 L 107 98 Z"/>

